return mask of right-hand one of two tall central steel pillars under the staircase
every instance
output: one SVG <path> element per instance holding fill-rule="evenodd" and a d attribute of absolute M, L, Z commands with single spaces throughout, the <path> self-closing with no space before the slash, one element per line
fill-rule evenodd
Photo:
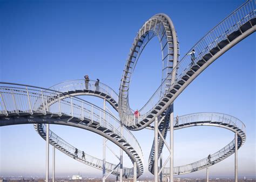
<path fill-rule="evenodd" d="M 170 113 L 170 182 L 173 182 L 173 103 Z"/>

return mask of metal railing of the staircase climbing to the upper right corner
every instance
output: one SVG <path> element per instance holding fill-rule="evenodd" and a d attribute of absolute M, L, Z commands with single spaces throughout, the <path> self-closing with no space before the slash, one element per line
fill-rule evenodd
<path fill-rule="evenodd" d="M 203 38 L 201 38 L 191 49 L 196 50 L 196 58 L 194 59 L 194 63 L 197 63 L 198 60 L 202 59 L 209 51 L 218 46 L 217 44 L 227 38 L 232 32 L 239 29 L 241 25 L 250 21 L 255 17 L 255 8 L 253 0 L 249 0 L 242 4 L 238 9 L 233 11 L 229 16 L 227 16 L 223 21 L 221 21 L 218 25 L 214 26 Z M 188 52 L 190 52 L 188 51 Z M 145 119 L 147 115 L 152 111 L 152 109 L 157 106 L 161 100 L 173 89 L 173 86 L 178 83 L 178 81 L 183 77 L 188 70 L 194 66 L 191 62 L 191 57 L 189 55 L 185 55 L 177 64 L 176 67 L 173 68 L 173 71 L 177 73 L 177 79 L 173 84 L 171 84 L 169 78 L 171 78 L 172 72 L 169 77 L 167 77 L 163 83 L 158 87 L 158 89 L 153 93 L 152 97 L 149 101 L 139 110 L 140 117 L 134 120 L 132 112 L 122 113 L 125 124 L 132 126 L 134 124 L 138 124 L 140 121 Z M 165 85 L 170 85 L 167 89 Z M 127 108 L 129 108 L 129 103 L 127 103 Z"/>

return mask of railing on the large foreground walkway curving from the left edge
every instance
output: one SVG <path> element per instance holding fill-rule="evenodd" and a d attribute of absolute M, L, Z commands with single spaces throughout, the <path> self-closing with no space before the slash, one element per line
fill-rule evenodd
<path fill-rule="evenodd" d="M 72 97 L 70 95 L 66 96 L 62 92 L 55 90 L 23 84 L 17 85 L 24 87 L 10 87 L 9 85 L 16 85 L 13 83 L 0 84 L 5 85 L 0 85 L 0 93 L 3 97 L 3 103 L 8 103 L 6 104 L 6 109 L 1 109 L 0 113 L 52 113 L 60 116 L 76 117 L 81 120 L 89 120 L 90 122 L 107 127 L 107 129 L 122 136 L 122 138 L 133 147 L 143 161 L 142 149 L 137 139 L 125 127 L 123 129 L 123 134 L 121 134 L 119 126 L 122 124 L 117 118 L 112 116 L 111 113 L 104 111 L 83 99 Z M 15 97 L 12 97 L 12 95 Z M 60 95 L 62 99 L 58 99 Z M 41 100 L 41 102 L 39 102 L 39 100 Z M 52 100 L 54 100 L 54 102 Z"/>

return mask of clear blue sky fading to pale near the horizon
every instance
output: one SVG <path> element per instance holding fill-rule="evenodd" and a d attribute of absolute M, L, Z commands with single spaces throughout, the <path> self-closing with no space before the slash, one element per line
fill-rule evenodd
<path fill-rule="evenodd" d="M 183 55 L 244 1 L 1 1 L 0 81 L 50 87 L 65 80 L 99 78 L 118 92 L 136 32 L 163 12 L 176 27 Z M 239 150 L 239 176 L 255 177 L 255 33 L 217 59 L 174 102 L 174 115 L 221 112 L 242 120 L 247 139 Z M 132 77 L 130 103 L 139 109 L 161 81 L 160 46 L 147 45 Z M 99 98 L 83 97 L 102 107 Z M 111 106 L 109 106 L 111 107 Z M 67 126 L 50 126 L 86 153 L 102 157 L 102 137 Z M 32 125 L 0 128 L 0 176 L 44 176 L 45 141 Z M 133 132 L 147 171 L 153 131 Z M 192 127 L 174 132 L 174 165 L 207 157 L 228 144 L 230 131 Z M 93 138 L 93 140 L 92 140 Z M 118 153 L 118 147 L 109 143 Z M 166 151 L 164 158 L 167 157 Z M 117 160 L 107 152 L 107 160 Z M 127 156 L 124 166 L 131 167 Z M 102 172 L 56 152 L 56 175 L 101 176 Z M 180 177 L 202 177 L 205 170 Z M 210 177 L 233 177 L 234 155 L 210 167 Z"/>

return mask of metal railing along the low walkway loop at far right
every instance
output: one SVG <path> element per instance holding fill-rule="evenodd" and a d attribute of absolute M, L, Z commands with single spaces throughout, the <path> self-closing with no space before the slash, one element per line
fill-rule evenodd
<path fill-rule="evenodd" d="M 199 113 L 191 113 L 191 114 L 186 114 L 183 116 L 178 117 L 178 127 L 174 125 L 174 130 L 182 128 L 185 124 L 191 124 L 192 126 L 195 123 L 198 122 L 208 122 L 208 123 L 213 123 L 217 122 L 219 125 L 225 125 L 225 127 L 228 129 L 232 129 L 232 126 L 238 127 L 239 130 L 237 130 L 237 133 L 239 137 L 241 138 L 241 143 L 239 147 L 241 147 L 242 144 L 245 143 L 245 124 L 241 122 L 238 118 L 235 118 L 231 115 L 228 114 L 223 114 L 223 113 L 215 113 L 215 112 L 199 112 Z M 176 118 L 174 118 L 173 123 L 177 123 Z M 189 125 L 186 125 L 187 127 Z M 242 131 L 242 132 L 241 132 Z M 230 156 L 232 153 L 234 153 L 234 139 L 227 144 L 223 149 L 220 149 L 219 151 L 211 154 L 211 161 L 214 161 L 214 163 L 217 163 L 221 160 L 224 160 L 226 157 Z M 150 158 L 150 163 L 153 163 L 153 158 Z M 174 173 L 176 174 L 184 174 L 184 173 L 189 173 L 189 172 L 194 172 L 199 170 L 200 168 L 204 168 L 206 166 L 212 165 L 207 161 L 207 157 L 201 160 L 198 160 L 194 163 L 183 165 L 183 166 L 177 166 L 174 167 Z M 169 167 L 165 167 L 163 170 L 163 174 L 166 175 L 170 172 Z"/>

